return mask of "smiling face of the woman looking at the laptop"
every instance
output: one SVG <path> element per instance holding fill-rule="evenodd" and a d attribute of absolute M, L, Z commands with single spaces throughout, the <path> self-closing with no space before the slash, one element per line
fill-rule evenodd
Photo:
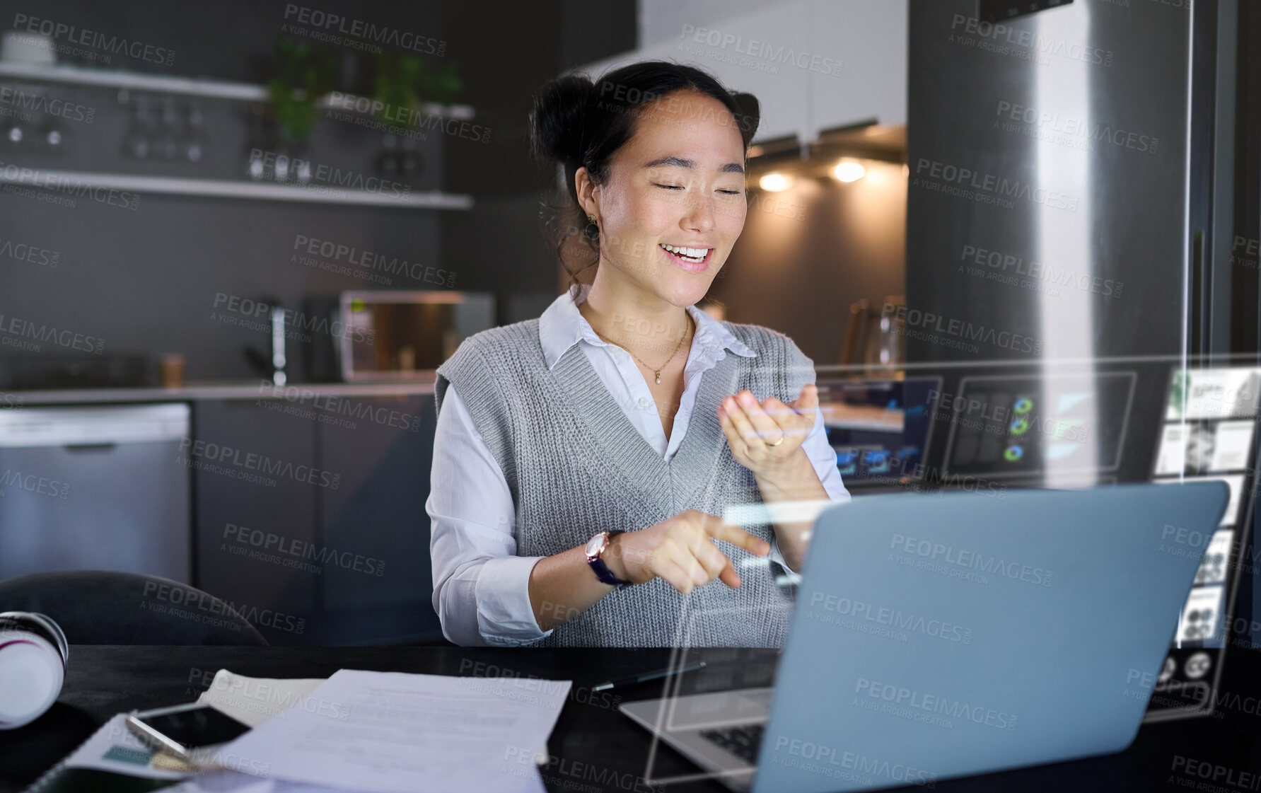
<path fill-rule="evenodd" d="M 705 296 L 748 209 L 744 141 L 726 106 L 695 91 L 667 95 L 642 110 L 605 184 L 579 173 L 579 195 L 599 218 L 601 270 L 612 265 L 676 306 Z"/>

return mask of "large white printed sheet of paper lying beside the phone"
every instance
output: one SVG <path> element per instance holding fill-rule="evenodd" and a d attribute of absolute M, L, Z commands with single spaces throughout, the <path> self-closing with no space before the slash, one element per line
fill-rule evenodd
<path fill-rule="evenodd" d="M 373 793 L 521 793 L 571 685 L 342 669 L 223 754 L 235 770 Z"/>

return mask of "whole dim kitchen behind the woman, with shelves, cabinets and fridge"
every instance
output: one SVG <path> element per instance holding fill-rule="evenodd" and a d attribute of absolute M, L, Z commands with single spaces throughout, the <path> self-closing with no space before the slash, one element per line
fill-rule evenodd
<path fill-rule="evenodd" d="M 443 642 L 431 378 L 372 361 L 433 349 L 344 294 L 464 301 L 415 320 L 439 347 L 537 316 L 567 276 L 540 228 L 556 174 L 530 156 L 532 93 L 646 58 L 762 102 L 745 229 L 706 303 L 813 358 L 856 494 L 890 459 L 899 489 L 1212 475 L 1245 552 L 1255 465 L 1156 460 L 1171 393 L 1207 387 L 1180 367 L 1256 367 L 1261 15 L 1030 5 L 0 3 L 0 580 L 155 574 L 277 644 Z M 412 49 L 333 42 L 333 15 Z M 139 49 L 112 50 L 124 35 Z M 422 112 L 391 134 L 363 97 Z M 380 334 L 354 377 L 339 298 Z M 992 419 L 1035 403 L 1087 440 Z M 1251 576 L 1200 582 L 1213 605 L 1178 652 L 1223 648 L 1241 580 L 1247 614 Z"/>

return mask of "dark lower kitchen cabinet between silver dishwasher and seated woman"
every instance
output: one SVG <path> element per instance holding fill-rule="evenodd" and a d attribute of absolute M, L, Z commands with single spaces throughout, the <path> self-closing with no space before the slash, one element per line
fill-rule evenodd
<path fill-rule="evenodd" d="M 430 395 L 197 402 L 199 585 L 272 644 L 440 638 L 434 412 Z"/>

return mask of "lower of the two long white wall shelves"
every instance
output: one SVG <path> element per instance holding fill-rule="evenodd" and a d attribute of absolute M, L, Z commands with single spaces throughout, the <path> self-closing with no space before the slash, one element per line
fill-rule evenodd
<path fill-rule="evenodd" d="M 10 173 L 14 171 L 14 173 Z M 43 184 L 69 184 L 79 188 L 105 188 L 130 193 L 158 193 L 165 195 L 198 195 L 206 198 L 255 198 L 264 200 L 310 202 L 322 204 L 356 204 L 364 207 L 395 207 L 400 209 L 472 209 L 473 197 L 440 190 L 414 192 L 393 197 L 368 190 L 347 190 L 318 184 L 265 184 L 235 182 L 231 179 L 189 179 L 185 177 L 142 177 L 129 174 L 98 174 L 67 170 L 40 170 Z M 0 184 L 28 185 L 49 189 L 30 183 L 29 173 L 0 169 Z"/>

